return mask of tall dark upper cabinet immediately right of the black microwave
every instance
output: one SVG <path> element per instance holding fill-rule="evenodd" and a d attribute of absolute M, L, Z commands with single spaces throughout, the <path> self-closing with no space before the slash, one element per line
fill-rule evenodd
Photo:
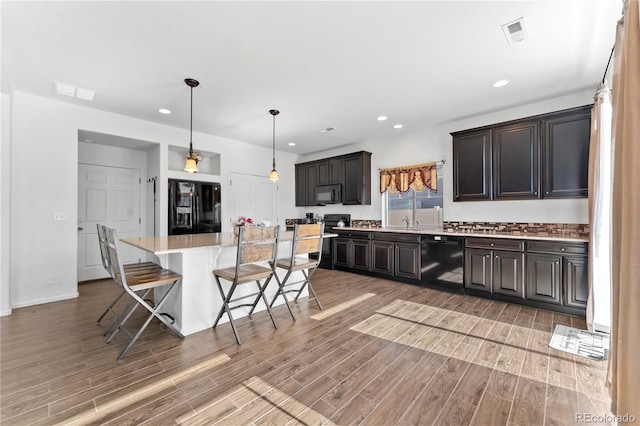
<path fill-rule="evenodd" d="M 371 153 L 343 157 L 342 204 L 371 204 Z"/>

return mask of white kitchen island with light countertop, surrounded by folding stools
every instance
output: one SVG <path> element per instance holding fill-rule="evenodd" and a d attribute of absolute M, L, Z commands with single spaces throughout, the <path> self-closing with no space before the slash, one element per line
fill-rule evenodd
<path fill-rule="evenodd" d="M 325 237 L 332 235 L 325 234 Z M 293 232 L 281 231 L 278 238 L 278 258 L 291 255 Z M 182 275 L 182 283 L 168 295 L 162 311 L 175 318 L 176 328 L 183 334 L 189 335 L 211 328 L 222 307 L 222 297 L 216 287 L 212 271 L 236 264 L 237 237 L 231 232 L 210 234 L 171 235 L 163 237 L 128 237 L 121 241 L 133 247 L 155 255 L 163 268 L 170 269 Z M 278 271 L 276 271 L 278 272 Z M 282 273 L 282 271 L 280 271 Z M 296 272 L 294 280 L 302 278 L 302 272 Z M 228 286 L 226 282 L 223 286 Z M 267 286 L 265 295 L 271 300 L 278 289 L 275 278 Z M 255 286 L 245 284 L 238 286 L 235 296 L 255 293 Z M 307 296 L 305 288 L 301 296 Z M 161 294 L 156 294 L 158 299 Z M 274 306 L 284 303 L 279 297 Z M 266 310 L 264 302 L 260 300 L 255 312 Z M 234 319 L 248 315 L 249 308 L 238 309 Z M 227 315 L 223 315 L 221 323 L 228 322 Z"/>

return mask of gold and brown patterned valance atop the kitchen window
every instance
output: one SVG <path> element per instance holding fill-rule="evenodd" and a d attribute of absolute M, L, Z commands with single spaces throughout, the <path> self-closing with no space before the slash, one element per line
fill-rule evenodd
<path fill-rule="evenodd" d="M 436 163 L 380 169 L 380 194 L 387 189 L 392 194 L 405 193 L 410 186 L 415 192 L 422 192 L 425 188 L 437 191 Z"/>

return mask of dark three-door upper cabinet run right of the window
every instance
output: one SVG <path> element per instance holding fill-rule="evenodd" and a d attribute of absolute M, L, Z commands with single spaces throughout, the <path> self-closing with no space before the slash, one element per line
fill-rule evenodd
<path fill-rule="evenodd" d="M 454 201 L 587 196 L 591 105 L 454 132 Z"/>

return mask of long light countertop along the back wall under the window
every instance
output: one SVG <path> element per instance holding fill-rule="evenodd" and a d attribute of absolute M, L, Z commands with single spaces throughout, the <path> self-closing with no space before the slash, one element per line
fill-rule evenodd
<path fill-rule="evenodd" d="M 420 235 L 452 235 L 459 237 L 482 237 L 482 238 L 510 238 L 517 240 L 545 240 L 545 241 L 568 241 L 568 242 L 589 242 L 589 237 L 586 235 L 580 235 L 573 232 L 550 234 L 548 232 L 499 232 L 499 231 L 487 231 L 487 232 L 461 232 L 461 231 L 448 231 L 443 228 L 368 228 L 368 227 L 344 227 L 339 228 L 344 231 L 364 231 L 364 232 L 392 232 L 402 234 L 420 234 Z"/>

